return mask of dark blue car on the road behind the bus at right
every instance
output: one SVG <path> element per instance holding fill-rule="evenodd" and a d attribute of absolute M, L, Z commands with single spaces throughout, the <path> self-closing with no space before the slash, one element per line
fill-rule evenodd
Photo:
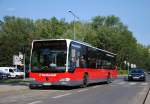
<path fill-rule="evenodd" d="M 130 69 L 128 73 L 128 80 L 140 80 L 140 81 L 145 81 L 146 80 L 146 75 L 143 69 L 141 68 L 134 68 Z"/>

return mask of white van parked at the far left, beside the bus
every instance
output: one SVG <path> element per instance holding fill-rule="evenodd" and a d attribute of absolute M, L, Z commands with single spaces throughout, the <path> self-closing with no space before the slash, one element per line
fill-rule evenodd
<path fill-rule="evenodd" d="M 4 73 L 9 73 L 11 78 L 23 78 L 24 72 L 17 71 L 15 67 L 0 67 Z"/>

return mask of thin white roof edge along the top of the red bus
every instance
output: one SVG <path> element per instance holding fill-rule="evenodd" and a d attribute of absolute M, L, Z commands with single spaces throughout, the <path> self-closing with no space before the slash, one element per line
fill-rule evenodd
<path fill-rule="evenodd" d="M 111 55 L 114 55 L 114 56 L 117 55 L 117 54 L 114 54 L 114 53 L 112 53 L 112 52 L 109 52 L 109 51 L 106 51 L 106 50 L 103 50 L 103 49 L 100 49 L 100 48 L 96 48 L 96 47 L 90 45 L 89 43 L 81 42 L 81 41 L 76 41 L 76 40 L 71 40 L 71 39 L 41 39 L 41 40 L 33 40 L 32 43 L 34 43 L 34 42 L 36 42 L 36 41 L 52 41 L 52 40 L 66 40 L 66 41 L 68 41 L 69 43 L 73 41 L 73 42 L 76 42 L 76 43 L 79 43 L 79 44 L 82 44 L 82 45 L 85 45 L 85 46 L 89 46 L 89 47 L 91 47 L 91 48 L 95 48 L 95 49 L 97 49 L 97 50 L 100 50 L 100 51 L 102 51 L 102 52 L 105 52 L 105 53 L 108 53 L 108 54 L 111 54 Z"/>

